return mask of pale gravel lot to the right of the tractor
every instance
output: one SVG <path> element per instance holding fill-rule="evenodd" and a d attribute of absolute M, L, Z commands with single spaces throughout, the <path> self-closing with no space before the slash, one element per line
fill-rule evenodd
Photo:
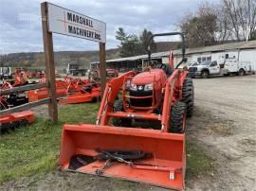
<path fill-rule="evenodd" d="M 188 188 L 256 190 L 256 76 L 198 78 L 194 86 L 188 137 L 205 145 L 216 172 Z"/>

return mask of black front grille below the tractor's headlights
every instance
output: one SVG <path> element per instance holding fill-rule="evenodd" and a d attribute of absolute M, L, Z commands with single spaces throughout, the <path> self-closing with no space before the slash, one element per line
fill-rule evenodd
<path fill-rule="evenodd" d="M 152 96 L 152 91 L 132 91 L 130 90 L 130 96 Z M 130 98 L 131 106 L 135 107 L 151 107 L 152 97 L 150 98 Z"/>

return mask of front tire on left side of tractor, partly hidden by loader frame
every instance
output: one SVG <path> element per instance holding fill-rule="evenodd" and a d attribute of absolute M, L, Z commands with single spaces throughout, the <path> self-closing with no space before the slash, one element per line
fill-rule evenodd
<path fill-rule="evenodd" d="M 116 100 L 114 102 L 114 111 L 115 112 L 123 112 L 122 100 Z M 116 127 L 131 127 L 132 119 L 127 118 L 112 118 L 112 124 Z"/>

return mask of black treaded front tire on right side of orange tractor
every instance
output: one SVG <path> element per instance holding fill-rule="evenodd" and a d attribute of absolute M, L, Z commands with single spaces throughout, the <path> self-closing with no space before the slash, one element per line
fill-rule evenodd
<path fill-rule="evenodd" d="M 186 104 L 177 101 L 172 107 L 169 132 L 182 133 L 186 125 Z"/>

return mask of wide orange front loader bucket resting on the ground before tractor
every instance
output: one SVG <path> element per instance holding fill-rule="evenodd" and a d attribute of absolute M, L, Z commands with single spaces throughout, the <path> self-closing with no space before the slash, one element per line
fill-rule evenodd
<path fill-rule="evenodd" d="M 104 168 L 102 176 L 184 189 L 184 134 L 85 124 L 64 125 L 59 161 L 64 169 L 70 169 L 74 156 L 85 155 L 90 158 L 89 162 L 72 170 L 96 174 L 106 164 L 106 161 L 95 158 L 99 150 L 139 150 L 151 154 L 149 158 L 137 160 L 137 165 L 116 162 Z"/>

